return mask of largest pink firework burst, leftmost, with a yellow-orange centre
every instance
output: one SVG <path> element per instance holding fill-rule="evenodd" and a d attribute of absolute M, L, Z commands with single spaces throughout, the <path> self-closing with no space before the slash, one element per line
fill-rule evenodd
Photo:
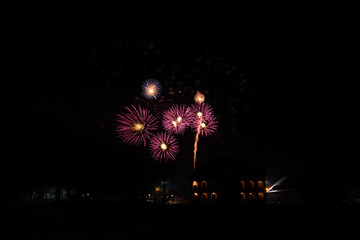
<path fill-rule="evenodd" d="M 127 112 L 117 114 L 116 132 L 125 143 L 146 146 L 146 140 L 154 135 L 152 131 L 157 130 L 157 119 L 141 106 L 131 105 L 125 109 Z"/>

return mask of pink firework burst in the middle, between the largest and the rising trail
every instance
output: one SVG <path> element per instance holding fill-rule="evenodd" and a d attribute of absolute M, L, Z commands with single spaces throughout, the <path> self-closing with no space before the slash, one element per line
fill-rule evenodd
<path fill-rule="evenodd" d="M 190 125 L 191 110 L 188 106 L 175 104 L 163 113 L 162 125 L 169 134 L 184 134 Z"/>

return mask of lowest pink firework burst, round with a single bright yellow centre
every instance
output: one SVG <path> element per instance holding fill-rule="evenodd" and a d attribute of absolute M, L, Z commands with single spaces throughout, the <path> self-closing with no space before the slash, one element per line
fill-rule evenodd
<path fill-rule="evenodd" d="M 166 132 L 158 133 L 150 140 L 150 152 L 152 157 L 159 162 L 174 160 L 179 152 L 176 138 Z"/>

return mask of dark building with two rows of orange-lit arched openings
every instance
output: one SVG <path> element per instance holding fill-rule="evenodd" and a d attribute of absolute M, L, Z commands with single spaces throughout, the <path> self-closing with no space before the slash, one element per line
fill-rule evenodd
<path fill-rule="evenodd" d="M 241 159 L 211 159 L 189 178 L 195 202 L 266 202 L 265 174 Z"/>

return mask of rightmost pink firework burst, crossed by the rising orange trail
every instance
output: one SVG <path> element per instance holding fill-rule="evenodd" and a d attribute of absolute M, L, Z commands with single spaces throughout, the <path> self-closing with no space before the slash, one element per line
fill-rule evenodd
<path fill-rule="evenodd" d="M 191 105 L 191 127 L 200 131 L 200 135 L 208 136 L 217 130 L 217 120 L 212 107 L 207 103 Z"/>

